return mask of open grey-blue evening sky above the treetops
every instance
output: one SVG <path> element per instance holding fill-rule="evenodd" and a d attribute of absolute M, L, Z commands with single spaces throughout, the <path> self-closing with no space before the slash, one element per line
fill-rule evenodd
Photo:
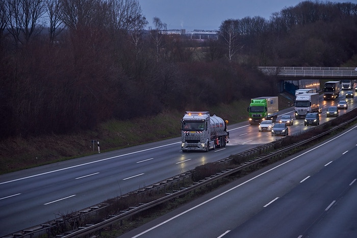
<path fill-rule="evenodd" d="M 142 14 L 152 27 L 152 18 L 159 17 L 167 29 L 186 31 L 218 30 L 226 19 L 261 16 L 269 20 L 274 12 L 293 7 L 302 0 L 138 0 Z M 315 2 L 313 0 L 312 2 Z M 320 0 L 319 2 L 326 2 Z M 333 0 L 333 3 L 357 3 L 357 0 Z"/>

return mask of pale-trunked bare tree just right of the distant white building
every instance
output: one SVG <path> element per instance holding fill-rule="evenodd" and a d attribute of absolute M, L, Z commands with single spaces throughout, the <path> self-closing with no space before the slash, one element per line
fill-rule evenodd
<path fill-rule="evenodd" d="M 238 20 L 228 19 L 222 22 L 219 28 L 219 36 L 223 39 L 225 48 L 227 49 L 227 59 L 232 61 L 233 56 L 238 51 Z"/>

